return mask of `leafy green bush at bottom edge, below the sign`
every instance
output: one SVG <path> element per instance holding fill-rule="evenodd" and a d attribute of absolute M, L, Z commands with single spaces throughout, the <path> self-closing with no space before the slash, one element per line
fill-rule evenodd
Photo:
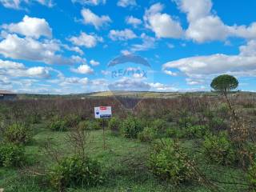
<path fill-rule="evenodd" d="M 96 186 L 103 180 L 101 166 L 97 161 L 78 156 L 62 159 L 50 169 L 49 178 L 51 185 L 59 191 L 66 187 Z"/>

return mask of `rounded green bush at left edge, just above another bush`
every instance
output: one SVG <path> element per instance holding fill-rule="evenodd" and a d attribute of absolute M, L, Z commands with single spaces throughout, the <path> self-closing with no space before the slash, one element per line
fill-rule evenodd
<path fill-rule="evenodd" d="M 14 144 L 26 144 L 31 141 L 31 130 L 24 123 L 14 123 L 4 130 L 4 138 L 6 142 Z"/>

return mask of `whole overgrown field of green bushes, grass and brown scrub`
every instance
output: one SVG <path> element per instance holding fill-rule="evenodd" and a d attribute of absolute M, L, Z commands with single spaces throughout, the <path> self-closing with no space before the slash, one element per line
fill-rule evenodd
<path fill-rule="evenodd" d="M 226 96 L 145 98 L 129 112 L 114 98 L 0 102 L 0 186 L 254 191 L 256 99 Z M 106 105 L 114 118 L 95 120 L 93 106 Z"/>

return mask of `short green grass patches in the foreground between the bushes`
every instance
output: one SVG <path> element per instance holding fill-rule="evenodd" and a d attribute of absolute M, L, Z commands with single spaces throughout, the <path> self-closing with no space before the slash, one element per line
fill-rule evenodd
<path fill-rule="evenodd" d="M 46 192 L 54 191 L 50 188 L 43 170 L 54 164 L 54 158 L 50 157 L 43 150 L 46 141 L 50 140 L 54 146 L 58 147 L 58 153 L 62 156 L 69 156 L 74 151 L 67 142 L 68 132 L 52 132 L 46 130 L 43 124 L 34 126 L 34 139 L 29 146 L 26 146 L 28 164 L 19 170 L 0 168 L 0 188 L 5 192 Z M 246 182 L 242 170 L 224 166 L 209 165 L 204 161 L 202 154 L 198 153 L 198 142 L 200 140 L 182 140 L 181 145 L 190 156 L 197 162 L 199 170 L 207 178 L 216 180 L 215 185 L 219 186 L 220 191 L 242 191 L 246 190 L 242 185 L 229 185 L 219 182 Z M 160 182 L 154 178 L 146 169 L 146 158 L 149 154 L 150 144 L 142 143 L 138 140 L 113 136 L 110 131 L 106 131 L 106 150 L 103 149 L 102 130 L 90 132 L 89 142 L 86 152 L 92 158 L 97 158 L 102 162 L 106 180 L 102 186 L 90 189 L 67 189 L 72 192 L 107 192 L 107 191 L 198 191 L 207 192 L 207 186 L 199 185 L 198 182 L 187 183 L 182 186 L 171 186 L 169 183 Z M 139 165 L 138 165 L 139 164 Z M 44 167 L 44 169 L 42 169 Z M 29 174 L 28 170 L 34 170 L 36 174 Z"/>

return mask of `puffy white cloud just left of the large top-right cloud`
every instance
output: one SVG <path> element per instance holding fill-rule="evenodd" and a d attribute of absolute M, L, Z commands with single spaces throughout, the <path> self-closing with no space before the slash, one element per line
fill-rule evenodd
<path fill-rule="evenodd" d="M 183 30 L 180 22 L 169 14 L 162 14 L 163 8 L 161 3 L 156 3 L 146 10 L 143 17 L 146 27 L 154 31 L 158 38 L 182 38 Z"/>

